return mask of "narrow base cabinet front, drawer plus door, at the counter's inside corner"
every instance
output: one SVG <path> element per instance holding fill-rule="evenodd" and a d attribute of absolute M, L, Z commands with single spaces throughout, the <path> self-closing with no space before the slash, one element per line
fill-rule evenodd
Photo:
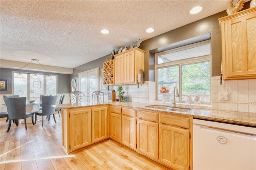
<path fill-rule="evenodd" d="M 110 138 L 122 142 L 121 107 L 110 106 Z"/>

